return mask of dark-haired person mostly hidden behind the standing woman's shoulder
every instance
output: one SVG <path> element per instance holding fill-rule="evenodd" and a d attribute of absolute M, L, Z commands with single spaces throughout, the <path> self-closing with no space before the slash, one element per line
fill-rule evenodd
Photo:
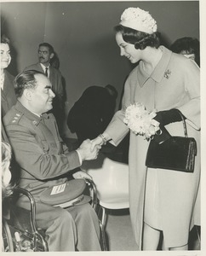
<path fill-rule="evenodd" d="M 170 49 L 186 58 L 196 61 L 200 66 L 199 41 L 197 38 L 179 38 L 171 46 Z"/>

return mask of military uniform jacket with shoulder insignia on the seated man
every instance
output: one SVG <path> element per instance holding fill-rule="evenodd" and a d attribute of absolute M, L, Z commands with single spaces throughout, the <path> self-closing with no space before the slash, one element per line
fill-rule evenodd
<path fill-rule="evenodd" d="M 38 117 L 17 102 L 3 123 L 20 166 L 19 185 L 36 200 L 45 189 L 66 180 L 58 177 L 80 166 L 77 152 L 69 152 L 62 142 L 52 113 Z"/>

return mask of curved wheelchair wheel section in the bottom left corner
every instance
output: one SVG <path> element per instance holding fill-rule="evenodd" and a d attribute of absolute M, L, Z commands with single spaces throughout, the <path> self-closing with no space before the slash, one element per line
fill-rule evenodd
<path fill-rule="evenodd" d="M 3 252 L 14 252 L 14 244 L 13 239 L 11 236 L 11 231 L 9 229 L 9 224 L 5 219 L 3 219 L 3 245 L 2 245 L 2 251 Z"/>

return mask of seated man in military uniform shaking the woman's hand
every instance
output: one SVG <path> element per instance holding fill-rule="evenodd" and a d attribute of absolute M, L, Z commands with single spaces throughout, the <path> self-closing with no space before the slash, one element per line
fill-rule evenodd
<path fill-rule="evenodd" d="M 52 113 L 54 92 L 49 79 L 37 71 L 20 73 L 15 79 L 18 102 L 3 119 L 14 158 L 20 166 L 18 185 L 34 196 L 37 225 L 49 236 L 49 251 L 99 251 L 100 227 L 89 203 L 61 208 L 44 204 L 40 195 L 45 189 L 64 183 L 68 173 L 81 166 L 83 160 L 97 157 L 99 148 L 90 150 L 85 140 L 77 150 L 69 152 L 62 142 Z M 87 177 L 84 172 L 76 177 Z M 26 197 L 20 207 L 30 208 Z"/>

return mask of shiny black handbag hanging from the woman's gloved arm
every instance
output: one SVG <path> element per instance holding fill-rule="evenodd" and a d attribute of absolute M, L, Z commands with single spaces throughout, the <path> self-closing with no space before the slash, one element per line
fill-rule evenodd
<path fill-rule="evenodd" d="M 146 154 L 147 167 L 194 172 L 197 143 L 193 137 L 187 136 L 186 121 L 182 113 L 180 116 L 185 137 L 170 137 L 163 143 L 151 140 Z"/>

